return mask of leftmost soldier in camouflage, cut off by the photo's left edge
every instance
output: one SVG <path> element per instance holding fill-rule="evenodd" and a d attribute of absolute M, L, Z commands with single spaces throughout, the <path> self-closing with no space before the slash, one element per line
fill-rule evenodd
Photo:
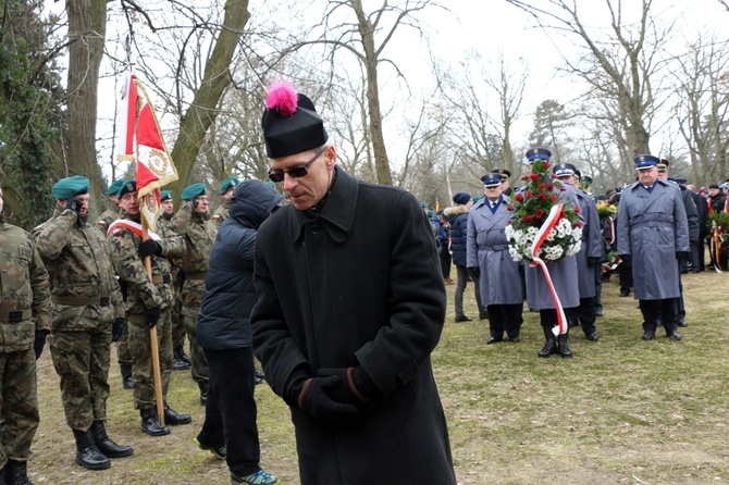
<path fill-rule="evenodd" d="M 0 188 L 0 484 L 29 484 L 38 428 L 36 360 L 50 332 L 48 273 L 28 233 L 5 224 Z"/>

